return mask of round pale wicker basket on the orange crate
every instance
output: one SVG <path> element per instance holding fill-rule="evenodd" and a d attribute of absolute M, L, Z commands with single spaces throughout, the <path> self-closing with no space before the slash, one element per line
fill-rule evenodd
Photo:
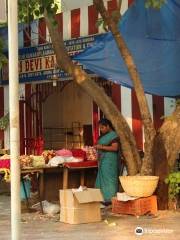
<path fill-rule="evenodd" d="M 149 197 L 155 191 L 157 176 L 122 176 L 119 177 L 124 191 L 133 197 Z"/>

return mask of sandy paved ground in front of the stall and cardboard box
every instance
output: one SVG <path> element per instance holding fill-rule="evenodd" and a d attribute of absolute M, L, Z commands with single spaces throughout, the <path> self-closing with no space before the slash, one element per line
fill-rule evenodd
<path fill-rule="evenodd" d="M 69 225 L 59 222 L 59 216 L 48 217 L 39 213 L 22 214 L 22 240 L 132 240 L 180 239 L 180 213 L 159 211 L 156 217 L 103 215 L 100 223 Z M 142 236 L 135 228 L 144 229 Z M 0 240 L 10 239 L 10 197 L 0 195 Z"/>

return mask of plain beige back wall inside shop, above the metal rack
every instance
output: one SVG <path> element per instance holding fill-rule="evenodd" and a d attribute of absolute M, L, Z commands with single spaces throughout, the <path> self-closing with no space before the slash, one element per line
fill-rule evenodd
<path fill-rule="evenodd" d="M 75 83 L 48 97 L 43 105 L 44 127 L 71 127 L 72 122 L 92 124 L 92 99 Z"/>

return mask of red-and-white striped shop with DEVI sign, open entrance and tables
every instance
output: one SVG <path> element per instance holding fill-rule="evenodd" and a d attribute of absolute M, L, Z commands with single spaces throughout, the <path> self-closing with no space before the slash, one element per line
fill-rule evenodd
<path fill-rule="evenodd" d="M 123 6 L 125 6 L 124 12 L 128 4 Z M 110 12 L 116 9 L 116 1 L 107 1 L 107 8 Z M 98 14 L 94 6 L 57 14 L 59 30 L 63 33 L 70 55 L 83 51 L 94 43 L 98 34 L 103 32 L 102 27 L 96 25 L 97 19 Z M 67 26 L 67 22 L 71 24 Z M 3 35 L 6 41 L 7 29 L 1 30 L 3 34 L 0 35 Z M 33 156 L 34 162 L 30 166 L 26 164 L 22 166 L 22 174 L 38 173 L 41 176 L 41 198 L 57 200 L 59 189 L 78 187 L 80 184 L 94 187 L 97 159 L 89 157 L 89 160 L 81 159 L 75 162 L 59 158 L 59 163 L 53 165 L 53 161 L 56 162 L 57 159 L 49 163 L 49 159 L 44 156 L 43 162 L 41 153 L 44 149 L 66 148 L 67 150 L 68 148 L 69 150 L 95 144 L 99 136 L 98 121 L 103 114 L 93 100 L 73 84 L 70 76 L 57 69 L 49 40 L 43 18 L 28 26 L 19 25 L 20 151 L 30 158 L 32 154 L 38 155 L 38 157 Z M 87 73 L 104 87 L 107 95 L 127 120 L 138 148 L 143 150 L 143 126 L 134 90 L 94 76 L 91 72 L 87 71 Z M 9 110 L 7 66 L 2 69 L 0 80 L 0 116 L 4 116 Z M 146 97 L 155 127 L 158 128 L 163 121 L 161 117 L 173 111 L 174 101 L 171 98 L 151 94 L 146 94 Z M 74 123 L 78 125 L 75 127 Z M 0 131 L 0 137 L 4 147 L 8 148 L 8 127 L 4 132 Z M 53 155 L 54 152 L 44 152 L 45 155 L 46 153 L 51 158 L 57 157 Z M 87 152 L 86 154 L 88 155 Z M 42 162 L 37 163 L 38 160 Z M 4 173 L 9 176 L 9 168 L 5 168 Z"/>

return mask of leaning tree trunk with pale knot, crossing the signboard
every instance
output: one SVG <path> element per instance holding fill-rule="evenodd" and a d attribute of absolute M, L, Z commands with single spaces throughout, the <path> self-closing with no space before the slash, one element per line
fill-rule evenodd
<path fill-rule="evenodd" d="M 127 122 L 111 99 L 106 95 L 103 88 L 99 87 L 84 70 L 73 64 L 72 60 L 67 55 L 62 36 L 58 33 L 57 27 L 52 24 L 46 12 L 44 13 L 44 16 L 59 68 L 72 75 L 74 81 L 93 98 L 106 117 L 113 123 L 117 134 L 120 136 L 128 173 L 130 175 L 137 174 L 140 169 L 141 160 L 136 148 L 134 136 L 132 135 Z"/>

